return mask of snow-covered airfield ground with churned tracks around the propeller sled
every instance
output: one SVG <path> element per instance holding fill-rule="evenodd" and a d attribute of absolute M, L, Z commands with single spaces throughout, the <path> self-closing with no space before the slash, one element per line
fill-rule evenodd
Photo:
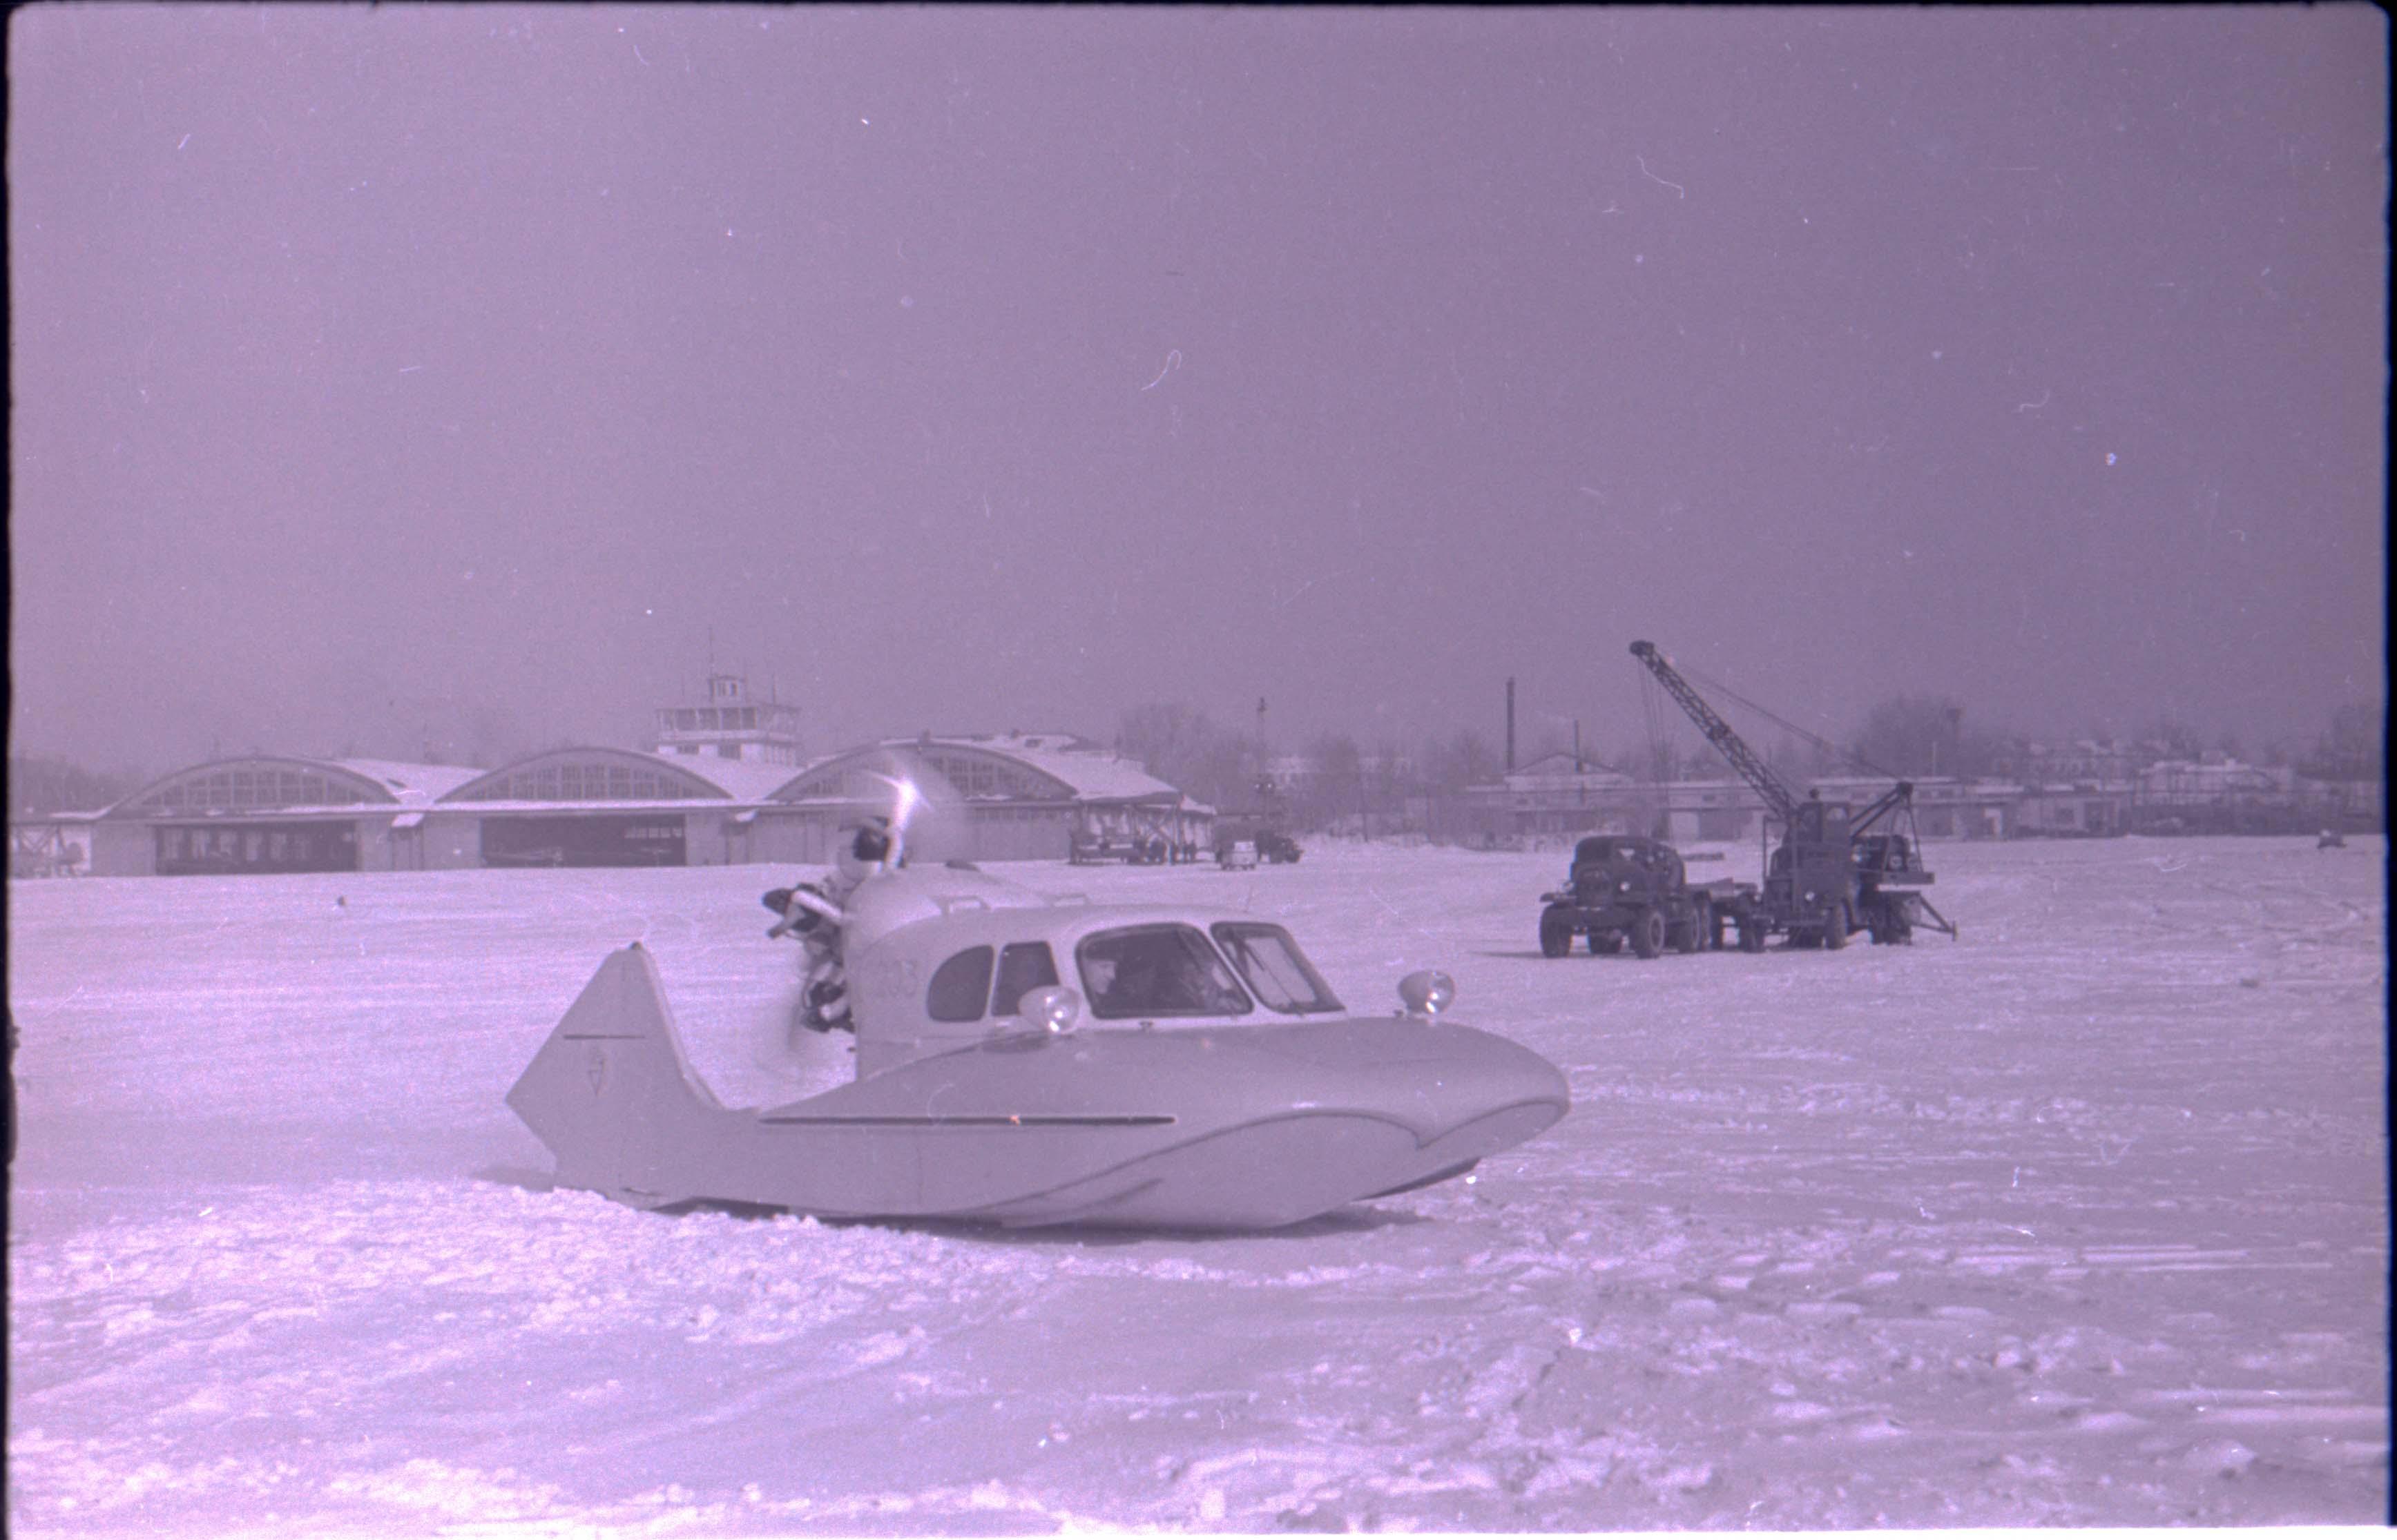
<path fill-rule="evenodd" d="M 10 884 L 10 1528 L 2378 1523 L 2383 841 L 1932 857 L 1956 944 L 1654 963 L 1539 956 L 1563 853 L 1009 867 L 1369 1011 L 1443 965 L 1572 1078 L 1230 1238 L 544 1190 L 501 1092 L 635 936 L 726 1102 L 846 1075 L 786 869 Z"/>

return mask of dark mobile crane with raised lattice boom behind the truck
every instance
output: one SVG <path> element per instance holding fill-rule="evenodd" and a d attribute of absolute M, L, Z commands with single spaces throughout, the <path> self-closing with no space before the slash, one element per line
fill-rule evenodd
<path fill-rule="evenodd" d="M 1654 642 L 1632 642 L 1632 656 L 1764 798 L 1771 810 L 1767 826 L 1781 824 L 1781 845 L 1764 865 L 1764 893 L 1755 903 L 1764 934 L 1783 934 L 1791 946 L 1829 948 L 1846 946 L 1860 929 L 1889 946 L 1910 941 L 1918 924 L 1956 936 L 1949 917 L 1920 891 L 1932 884 L 1932 872 L 1922 865 L 1922 838 L 1915 833 L 1913 781 L 1898 781 L 1865 807 L 1819 795 L 1800 800 Z"/>

